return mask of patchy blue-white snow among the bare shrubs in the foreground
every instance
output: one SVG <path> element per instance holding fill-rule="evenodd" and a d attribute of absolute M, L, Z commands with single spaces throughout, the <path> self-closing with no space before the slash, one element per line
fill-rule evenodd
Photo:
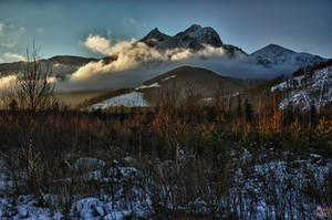
<path fill-rule="evenodd" d="M 240 219 L 266 219 L 267 216 L 263 216 L 266 213 L 268 213 L 271 219 L 280 219 L 280 217 L 281 219 L 287 219 L 291 214 L 290 211 L 298 214 L 303 212 L 301 214 L 307 214 L 305 217 L 308 218 L 314 217 L 312 210 L 315 210 L 318 203 L 305 195 L 305 189 L 311 181 L 308 175 L 312 174 L 314 178 L 313 184 L 318 185 L 319 188 L 321 188 L 320 190 L 324 191 L 325 189 L 322 186 L 324 186 L 324 181 L 328 178 L 331 164 L 324 163 L 324 159 L 318 154 L 310 154 L 309 158 L 303 159 L 294 158 L 292 154 L 284 153 L 281 157 L 274 155 L 274 159 L 267 160 L 271 157 L 270 154 L 274 153 L 261 153 L 259 156 L 253 156 L 250 150 L 245 149 L 239 156 L 234 155 L 235 163 L 239 167 L 236 168 L 235 184 L 228 192 L 228 200 L 225 200 L 222 197 L 215 197 L 216 195 L 211 191 L 211 195 L 208 197 L 197 197 L 180 206 L 176 203 L 176 193 L 180 193 L 181 190 L 184 190 L 179 186 L 170 187 L 167 186 L 167 184 L 165 185 L 165 182 L 154 182 L 151 176 L 141 176 L 143 172 L 131 167 L 129 164 L 127 167 L 121 165 L 110 167 L 107 161 L 93 157 L 81 157 L 73 164 L 79 165 L 86 163 L 86 167 L 92 167 L 92 169 L 95 169 L 92 172 L 97 174 L 96 176 L 85 175 L 85 178 L 100 180 L 101 182 L 103 181 L 102 179 L 108 179 L 108 185 L 113 185 L 117 188 L 115 195 L 112 196 L 107 193 L 85 197 L 77 195 L 74 197 L 75 199 L 70 207 L 68 218 L 72 220 L 151 219 L 151 214 L 153 214 L 154 211 L 153 201 L 151 199 L 152 193 L 160 193 L 158 197 L 160 197 L 162 200 L 158 205 L 174 211 L 200 214 L 217 211 L 217 213 L 219 212 L 221 214 L 225 213 L 224 210 L 230 208 L 235 212 L 246 213 L 239 217 Z M 289 160 L 288 157 L 292 159 Z M 187 155 L 185 150 L 180 150 L 180 161 L 186 164 L 187 159 L 190 160 L 190 155 Z M 133 158 L 127 156 L 120 160 L 131 163 Z M 255 164 L 248 166 L 251 163 Z M 156 166 L 160 172 L 176 167 L 173 160 L 159 161 Z M 107 178 L 103 178 L 102 174 L 102 169 L 105 168 L 112 170 L 106 172 Z M 121 175 L 114 172 L 115 170 L 118 170 Z M 135 184 L 139 178 L 148 178 L 148 184 L 146 186 L 142 186 L 139 181 Z M 1 180 L 6 181 L 3 179 Z M 127 185 L 128 180 L 131 182 L 129 185 Z M 158 191 L 152 191 L 149 185 L 153 185 L 152 189 L 157 189 Z M 125 196 L 127 190 L 132 192 L 132 196 L 128 198 Z M 172 192 L 170 190 L 176 190 L 177 192 Z M 252 197 L 252 195 L 255 195 L 255 197 Z M 44 196 L 44 200 L 50 201 L 52 199 L 48 198 L 54 196 L 46 195 Z M 287 209 L 287 202 L 291 202 L 292 210 Z M 319 206 L 324 207 L 325 205 L 319 203 Z M 250 214 L 247 216 L 247 213 Z M 64 213 L 56 209 L 51 211 L 49 208 L 38 207 L 35 196 L 25 195 L 19 196 L 18 198 L 0 198 L 0 218 L 3 220 L 60 220 L 64 217 L 63 214 Z M 226 218 L 224 216 L 219 217 L 220 219 Z M 294 218 L 295 217 L 292 219 Z"/>

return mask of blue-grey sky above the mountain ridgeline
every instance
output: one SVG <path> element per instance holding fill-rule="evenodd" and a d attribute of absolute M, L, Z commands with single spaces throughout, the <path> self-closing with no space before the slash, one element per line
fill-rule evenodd
<path fill-rule="evenodd" d="M 212 27 L 224 43 L 248 53 L 276 43 L 332 57 L 331 21 L 332 0 L 0 0 L 0 62 L 20 59 L 33 38 L 43 57 L 97 56 L 80 43 L 91 33 L 132 40 L 193 23 Z"/>

